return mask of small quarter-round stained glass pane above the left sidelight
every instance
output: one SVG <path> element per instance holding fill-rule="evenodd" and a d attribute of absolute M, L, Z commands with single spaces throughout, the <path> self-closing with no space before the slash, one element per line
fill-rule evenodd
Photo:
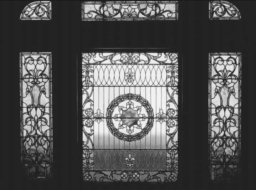
<path fill-rule="evenodd" d="M 35 1 L 21 12 L 21 20 L 51 20 L 51 1 Z"/>

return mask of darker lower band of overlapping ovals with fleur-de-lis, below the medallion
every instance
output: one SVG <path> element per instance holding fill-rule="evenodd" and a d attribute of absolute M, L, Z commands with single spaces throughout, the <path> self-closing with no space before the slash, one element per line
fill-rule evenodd
<path fill-rule="evenodd" d="M 167 155 L 164 150 L 94 150 L 96 170 L 162 171 L 166 169 Z"/>

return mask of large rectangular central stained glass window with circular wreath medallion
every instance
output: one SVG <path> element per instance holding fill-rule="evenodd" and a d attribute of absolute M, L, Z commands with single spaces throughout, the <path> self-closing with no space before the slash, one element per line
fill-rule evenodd
<path fill-rule="evenodd" d="M 83 179 L 175 181 L 177 53 L 82 54 Z"/>

